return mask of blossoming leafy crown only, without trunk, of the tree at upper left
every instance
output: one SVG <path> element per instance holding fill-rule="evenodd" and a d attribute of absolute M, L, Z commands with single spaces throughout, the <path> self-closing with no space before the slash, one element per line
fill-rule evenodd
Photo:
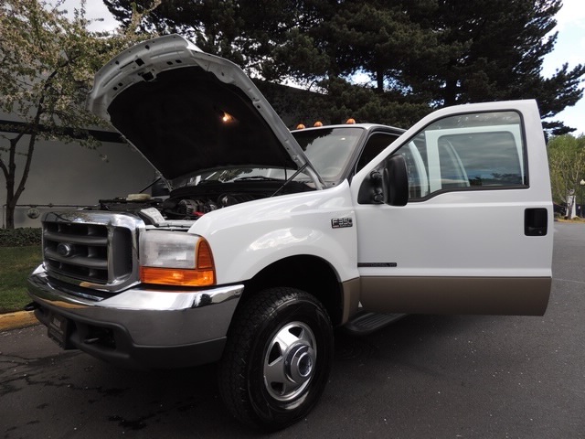
<path fill-rule="evenodd" d="M 64 127 L 85 131 L 103 124 L 84 102 L 95 71 L 121 41 L 88 32 L 82 11 L 69 21 L 64 11 L 37 0 L 5 0 L 0 17 L 2 110 L 19 116 L 26 134 L 38 139 L 78 140 Z"/>

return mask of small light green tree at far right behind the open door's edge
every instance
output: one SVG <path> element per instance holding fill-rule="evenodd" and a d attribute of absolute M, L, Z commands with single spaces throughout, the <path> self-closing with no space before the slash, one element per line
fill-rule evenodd
<path fill-rule="evenodd" d="M 552 137 L 548 141 L 548 166 L 555 201 L 568 203 L 571 191 L 579 195 L 580 181 L 585 179 L 585 135 Z"/>

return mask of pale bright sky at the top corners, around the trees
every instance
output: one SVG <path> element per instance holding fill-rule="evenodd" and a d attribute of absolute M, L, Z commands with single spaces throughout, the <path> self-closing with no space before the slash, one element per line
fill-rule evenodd
<path fill-rule="evenodd" d="M 72 10 L 79 7 L 80 0 L 66 0 L 64 7 Z M 102 22 L 95 22 L 90 30 L 108 30 L 117 27 L 116 21 L 112 18 L 106 6 L 101 0 L 88 0 L 86 5 L 88 18 L 104 18 Z M 578 64 L 585 64 L 585 7 L 582 0 L 564 0 L 563 6 L 558 12 L 557 44 L 554 50 L 549 53 L 543 62 L 544 77 L 550 77 L 562 65 L 569 63 L 569 70 Z M 585 86 L 585 79 L 581 88 Z M 553 120 L 561 121 L 565 125 L 576 128 L 574 135 L 585 134 L 585 97 L 573 107 L 568 107 L 559 112 Z"/>

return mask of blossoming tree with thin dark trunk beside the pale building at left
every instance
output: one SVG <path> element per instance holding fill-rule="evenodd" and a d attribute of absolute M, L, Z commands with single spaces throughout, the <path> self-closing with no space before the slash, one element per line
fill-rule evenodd
<path fill-rule="evenodd" d="M 6 226 L 14 227 L 14 209 L 25 190 L 37 141 L 79 142 L 95 147 L 89 129 L 104 122 L 85 109 L 93 76 L 133 34 L 87 30 L 85 2 L 72 19 L 41 0 L 0 3 L 0 110 L 17 123 L 0 124 L 0 170 L 6 187 Z M 25 165 L 16 169 L 16 156 Z"/>

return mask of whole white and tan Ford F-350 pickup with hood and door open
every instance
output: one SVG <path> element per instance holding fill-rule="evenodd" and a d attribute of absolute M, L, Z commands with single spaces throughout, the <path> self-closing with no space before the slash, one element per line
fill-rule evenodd
<path fill-rule="evenodd" d="M 172 35 L 104 66 L 88 105 L 171 191 L 44 216 L 30 307 L 63 348 L 124 367 L 218 361 L 229 411 L 273 430 L 324 391 L 334 327 L 547 308 L 534 101 L 445 108 L 407 131 L 290 132 L 238 67 Z"/>

